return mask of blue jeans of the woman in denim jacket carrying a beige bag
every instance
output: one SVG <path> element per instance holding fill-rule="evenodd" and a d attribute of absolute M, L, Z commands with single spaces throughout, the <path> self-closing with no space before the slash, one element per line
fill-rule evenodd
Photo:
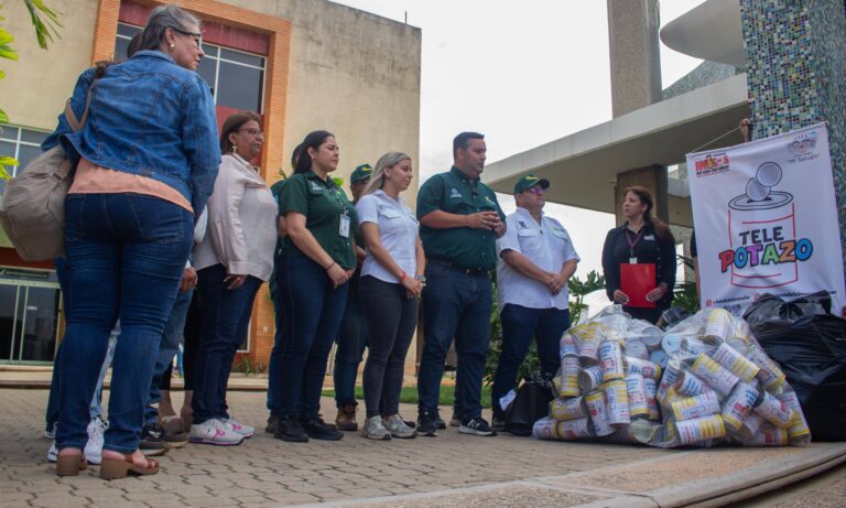
<path fill-rule="evenodd" d="M 105 450 L 132 453 L 144 422 L 164 325 L 194 239 L 186 209 L 158 197 L 69 194 L 65 248 L 70 307 L 62 352 L 56 445 L 82 448 L 88 407 L 120 318 Z"/>

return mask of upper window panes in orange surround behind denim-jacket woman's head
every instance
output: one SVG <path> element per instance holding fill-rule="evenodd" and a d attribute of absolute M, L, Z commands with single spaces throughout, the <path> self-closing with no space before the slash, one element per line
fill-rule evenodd
<path fill-rule="evenodd" d="M 129 41 L 140 31 L 139 26 L 118 23 L 115 60 L 126 60 Z M 203 44 L 203 52 L 206 56 L 200 61 L 197 73 L 212 87 L 215 104 L 261 114 L 267 58 L 208 43 Z"/>

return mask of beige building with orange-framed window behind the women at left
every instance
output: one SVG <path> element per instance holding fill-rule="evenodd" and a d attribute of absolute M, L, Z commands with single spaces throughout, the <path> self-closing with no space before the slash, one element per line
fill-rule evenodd
<path fill-rule="evenodd" d="M 2 63 L 2 108 L 10 122 L 0 153 L 23 164 L 56 125 L 77 76 L 94 62 L 121 60 L 153 0 L 65 0 L 51 8 L 59 37 L 40 50 L 22 2 L 2 14 L 18 62 Z M 293 148 L 310 131 L 335 133 L 348 181 L 362 162 L 400 150 L 419 160 L 421 31 L 326 0 L 183 0 L 204 20 L 199 68 L 212 86 L 218 125 L 240 109 L 262 115 L 260 172 L 269 184 L 290 173 Z M 23 165 L 22 164 L 22 165 Z M 21 166 L 22 167 L 22 166 Z M 345 186 L 347 183 L 345 183 Z M 409 190 L 411 203 L 416 190 Z M 48 363 L 61 337 L 62 304 L 52 263 L 26 263 L 0 240 L 0 363 Z M 267 364 L 273 342 L 267 285 L 256 300 L 241 356 Z"/>

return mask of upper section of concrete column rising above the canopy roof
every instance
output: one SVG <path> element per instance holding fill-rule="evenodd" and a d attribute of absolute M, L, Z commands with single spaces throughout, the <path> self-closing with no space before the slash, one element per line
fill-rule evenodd
<path fill-rule="evenodd" d="M 607 0 L 614 117 L 661 100 L 658 0 Z"/>

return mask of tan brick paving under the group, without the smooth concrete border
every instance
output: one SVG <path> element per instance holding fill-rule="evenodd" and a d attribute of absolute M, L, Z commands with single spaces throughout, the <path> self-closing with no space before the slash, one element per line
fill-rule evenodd
<path fill-rule="evenodd" d="M 177 393 L 174 402 L 181 402 Z M 108 397 L 108 392 L 106 392 Z M 46 390 L 0 389 L 0 508 L 6 507 L 271 507 L 327 501 L 355 501 L 392 495 L 480 487 L 473 496 L 486 506 L 501 506 L 518 496 L 519 486 L 498 496 L 499 484 L 563 476 L 615 464 L 651 462 L 684 453 L 650 447 L 596 443 L 541 442 L 508 434 L 477 437 L 457 429 L 437 437 L 373 442 L 346 433 L 335 443 L 284 443 L 263 432 L 264 393 L 230 392 L 232 414 L 258 432 L 245 444 L 215 447 L 188 444 L 161 458 L 159 475 L 100 480 L 90 467 L 77 477 L 58 478 L 45 455 Z M 415 409 L 404 406 L 405 417 Z M 359 409 L 359 418 L 362 410 Z M 334 401 L 323 400 L 327 421 Z M 443 410 L 449 415 L 448 410 Z M 489 414 L 487 415 L 489 417 Z M 550 490 L 551 505 L 584 502 L 596 497 Z M 566 500 L 566 499 L 568 500 Z M 566 500 L 566 501 L 565 501 Z M 402 506 L 414 502 L 403 501 Z M 508 502 L 514 506 L 513 502 Z M 476 505 L 474 505 L 476 506 Z"/>

